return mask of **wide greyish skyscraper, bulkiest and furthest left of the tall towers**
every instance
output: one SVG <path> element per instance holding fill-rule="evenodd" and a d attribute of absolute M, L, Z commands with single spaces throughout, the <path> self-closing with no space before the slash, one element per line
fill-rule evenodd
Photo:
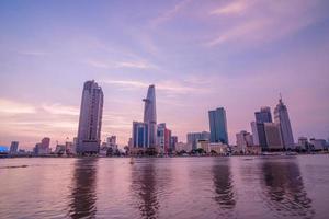
<path fill-rule="evenodd" d="M 101 143 L 103 91 L 97 82 L 83 85 L 77 139 L 77 152 L 98 153 Z"/>

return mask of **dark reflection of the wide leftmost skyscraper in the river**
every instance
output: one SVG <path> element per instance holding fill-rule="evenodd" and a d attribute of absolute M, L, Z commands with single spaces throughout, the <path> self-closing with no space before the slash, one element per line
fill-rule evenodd
<path fill-rule="evenodd" d="M 94 218 L 97 208 L 98 159 L 78 159 L 75 164 L 73 187 L 70 195 L 71 218 Z"/>

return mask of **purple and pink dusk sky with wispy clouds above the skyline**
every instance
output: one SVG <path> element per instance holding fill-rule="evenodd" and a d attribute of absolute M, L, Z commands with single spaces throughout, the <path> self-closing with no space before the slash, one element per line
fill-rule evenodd
<path fill-rule="evenodd" d="M 295 141 L 329 138 L 329 1 L 0 0 L 0 145 L 77 135 L 83 82 L 104 92 L 102 139 L 126 145 L 156 84 L 179 141 L 225 107 L 230 143 L 280 93 Z"/>

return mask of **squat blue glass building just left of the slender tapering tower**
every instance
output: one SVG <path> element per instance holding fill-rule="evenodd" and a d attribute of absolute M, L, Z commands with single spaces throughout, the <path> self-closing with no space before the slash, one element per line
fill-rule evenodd
<path fill-rule="evenodd" d="M 149 148 L 148 123 L 133 122 L 133 147 Z"/>

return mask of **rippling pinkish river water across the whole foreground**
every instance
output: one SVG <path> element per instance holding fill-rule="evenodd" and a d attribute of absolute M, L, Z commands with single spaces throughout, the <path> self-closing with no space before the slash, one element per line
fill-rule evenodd
<path fill-rule="evenodd" d="M 329 218 L 329 155 L 0 160 L 0 218 Z"/>

